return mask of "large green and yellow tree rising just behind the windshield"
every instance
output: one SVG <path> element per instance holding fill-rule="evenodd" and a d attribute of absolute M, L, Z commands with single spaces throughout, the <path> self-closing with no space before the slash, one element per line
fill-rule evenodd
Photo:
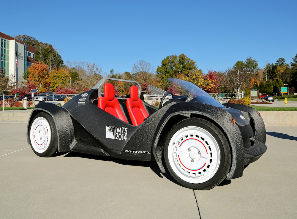
<path fill-rule="evenodd" d="M 157 67 L 156 73 L 160 79 L 160 87 L 164 88 L 167 78 L 177 78 L 181 74 L 187 76 L 195 70 L 198 70 L 196 62 L 183 53 L 179 56 L 167 56 L 162 60 L 161 66 Z"/>

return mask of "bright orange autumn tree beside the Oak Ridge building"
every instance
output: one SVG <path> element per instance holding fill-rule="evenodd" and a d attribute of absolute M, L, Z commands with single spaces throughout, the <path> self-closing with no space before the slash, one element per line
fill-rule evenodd
<path fill-rule="evenodd" d="M 45 92 L 48 90 L 48 65 L 44 62 L 36 62 L 32 64 L 28 71 L 30 73 L 27 81 L 28 83 L 34 84 L 40 92 Z"/>

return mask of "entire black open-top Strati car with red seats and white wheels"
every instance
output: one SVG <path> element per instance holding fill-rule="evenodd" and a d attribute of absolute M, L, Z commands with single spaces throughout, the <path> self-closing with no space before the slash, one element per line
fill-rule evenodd
<path fill-rule="evenodd" d="M 131 94 L 115 98 L 106 80 L 132 83 Z M 171 78 L 167 83 L 181 95 L 168 92 L 159 109 L 144 102 L 136 81 L 113 78 L 102 79 L 63 107 L 40 103 L 29 118 L 28 144 L 41 157 L 74 151 L 156 161 L 162 173 L 167 169 L 182 186 L 200 190 L 241 177 L 266 151 L 257 110 L 222 105 L 187 81 Z"/>

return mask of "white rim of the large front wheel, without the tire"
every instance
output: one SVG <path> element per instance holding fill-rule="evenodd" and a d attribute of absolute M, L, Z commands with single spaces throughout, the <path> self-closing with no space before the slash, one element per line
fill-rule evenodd
<path fill-rule="evenodd" d="M 189 183 L 203 183 L 217 172 L 221 153 L 215 138 L 203 128 L 188 126 L 170 139 L 168 160 L 174 173 Z"/>

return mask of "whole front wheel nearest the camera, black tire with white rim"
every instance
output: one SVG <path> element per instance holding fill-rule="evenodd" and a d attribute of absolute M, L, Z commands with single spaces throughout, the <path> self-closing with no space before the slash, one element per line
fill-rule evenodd
<path fill-rule="evenodd" d="M 213 123 L 198 118 L 184 119 L 169 131 L 164 158 L 168 171 L 179 184 L 199 190 L 219 185 L 231 163 L 225 135 Z"/>

